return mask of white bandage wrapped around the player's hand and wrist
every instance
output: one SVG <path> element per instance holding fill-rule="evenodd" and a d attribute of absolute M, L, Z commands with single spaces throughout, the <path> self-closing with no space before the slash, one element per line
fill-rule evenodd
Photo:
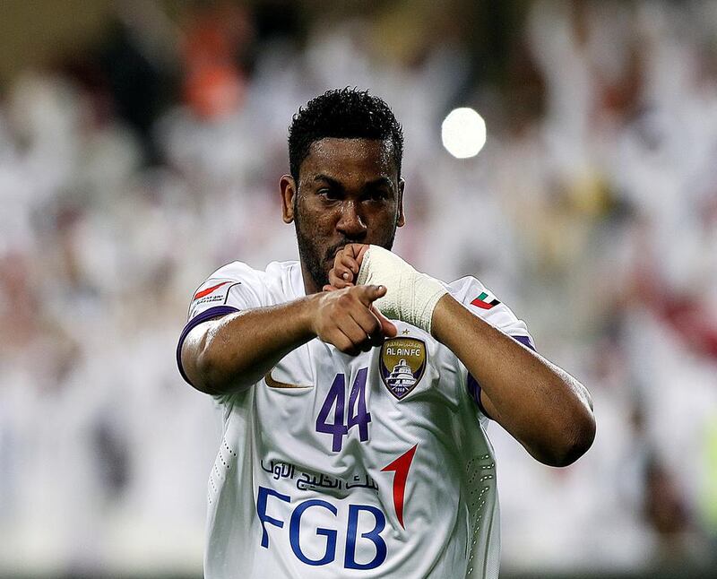
<path fill-rule="evenodd" d="M 378 311 L 428 333 L 433 310 L 448 293 L 440 281 L 417 272 L 401 257 L 380 246 L 368 247 L 356 284 L 385 286 L 386 295 L 374 302 Z"/>

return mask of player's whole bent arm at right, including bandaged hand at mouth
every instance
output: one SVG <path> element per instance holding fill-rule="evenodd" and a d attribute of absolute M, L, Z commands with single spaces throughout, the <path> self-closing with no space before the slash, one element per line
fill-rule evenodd
<path fill-rule="evenodd" d="M 358 250 L 358 251 L 357 251 Z M 540 462 L 565 466 L 592 445 L 590 394 L 573 376 L 472 315 L 445 286 L 379 246 L 336 256 L 333 287 L 353 281 L 385 285 L 376 307 L 431 333 L 479 381 L 486 408 Z M 361 257 L 363 255 L 363 257 Z"/>

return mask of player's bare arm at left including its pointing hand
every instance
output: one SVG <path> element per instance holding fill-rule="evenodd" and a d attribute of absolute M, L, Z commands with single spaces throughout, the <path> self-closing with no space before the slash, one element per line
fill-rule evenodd
<path fill-rule="evenodd" d="M 351 285 L 209 320 L 186 335 L 182 366 L 194 388 L 219 395 L 246 390 L 315 337 L 356 356 L 397 333 L 373 305 L 385 293 L 378 285 Z"/>

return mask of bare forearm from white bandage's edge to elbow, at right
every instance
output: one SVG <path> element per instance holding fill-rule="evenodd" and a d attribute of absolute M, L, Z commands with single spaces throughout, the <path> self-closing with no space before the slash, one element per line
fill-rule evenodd
<path fill-rule="evenodd" d="M 468 368 L 487 394 L 491 418 L 540 462 L 564 466 L 592 445 L 595 422 L 587 389 L 573 376 L 441 298 L 432 333 Z"/>

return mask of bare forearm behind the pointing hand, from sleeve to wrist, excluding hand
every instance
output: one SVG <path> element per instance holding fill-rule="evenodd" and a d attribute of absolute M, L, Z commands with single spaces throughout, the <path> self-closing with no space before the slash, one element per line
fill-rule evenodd
<path fill-rule="evenodd" d="M 315 337 L 314 301 L 309 296 L 259 307 L 194 328 L 182 347 L 182 365 L 192 385 L 217 395 L 255 384 L 289 351 Z"/>

